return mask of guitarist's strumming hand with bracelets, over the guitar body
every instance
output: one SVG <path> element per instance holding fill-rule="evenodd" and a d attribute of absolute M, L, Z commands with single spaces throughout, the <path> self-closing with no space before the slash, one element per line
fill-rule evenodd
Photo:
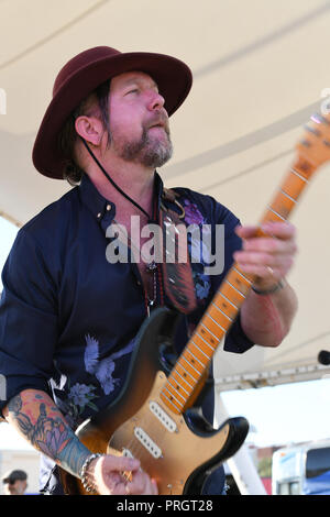
<path fill-rule="evenodd" d="M 130 472 L 129 479 L 123 475 Z M 94 460 L 88 476 L 100 495 L 157 495 L 157 484 L 142 471 L 135 459 L 103 455 Z"/>

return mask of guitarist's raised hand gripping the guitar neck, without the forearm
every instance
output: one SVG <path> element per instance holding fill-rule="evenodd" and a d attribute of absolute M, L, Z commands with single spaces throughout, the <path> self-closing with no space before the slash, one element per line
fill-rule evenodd
<path fill-rule="evenodd" d="M 296 230 L 288 222 L 267 222 L 261 227 L 266 235 L 256 237 L 258 229 L 237 228 L 243 246 L 233 256 L 243 273 L 257 276 L 255 287 L 268 289 L 284 278 L 293 266 L 297 252 Z"/>

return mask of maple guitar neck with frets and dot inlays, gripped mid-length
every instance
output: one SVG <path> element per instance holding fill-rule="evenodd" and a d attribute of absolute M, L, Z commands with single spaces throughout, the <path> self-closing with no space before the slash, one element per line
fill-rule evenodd
<path fill-rule="evenodd" d="M 304 156 L 296 160 L 266 208 L 261 224 L 288 219 L 316 168 Z M 257 237 L 263 234 L 260 230 Z M 189 403 L 194 393 L 205 377 L 220 341 L 237 318 L 254 279 L 255 276 L 242 273 L 235 262 L 224 277 L 161 393 L 163 403 L 175 414 L 184 413 L 191 405 Z"/>

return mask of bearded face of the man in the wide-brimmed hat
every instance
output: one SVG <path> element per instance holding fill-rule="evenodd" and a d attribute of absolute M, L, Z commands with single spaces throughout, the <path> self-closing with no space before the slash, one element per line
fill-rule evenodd
<path fill-rule="evenodd" d="M 161 167 L 172 156 L 168 116 L 157 85 L 142 72 L 111 79 L 110 148 L 122 160 Z"/>

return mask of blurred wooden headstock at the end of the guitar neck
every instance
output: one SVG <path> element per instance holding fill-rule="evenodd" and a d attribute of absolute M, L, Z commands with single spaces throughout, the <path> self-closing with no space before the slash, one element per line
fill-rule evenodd
<path fill-rule="evenodd" d="M 312 114 L 305 130 L 296 148 L 300 158 L 317 168 L 330 161 L 330 114 Z"/>

